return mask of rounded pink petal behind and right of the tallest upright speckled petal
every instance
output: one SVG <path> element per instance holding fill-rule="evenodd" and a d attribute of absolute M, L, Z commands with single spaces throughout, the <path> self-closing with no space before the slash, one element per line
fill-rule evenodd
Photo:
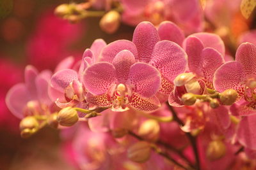
<path fill-rule="evenodd" d="M 185 38 L 184 32 L 173 22 L 164 21 L 158 27 L 158 34 L 161 40 L 169 40 L 182 45 Z"/>

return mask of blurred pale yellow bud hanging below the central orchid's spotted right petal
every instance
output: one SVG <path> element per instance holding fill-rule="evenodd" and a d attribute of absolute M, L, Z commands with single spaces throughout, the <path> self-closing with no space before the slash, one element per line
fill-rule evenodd
<path fill-rule="evenodd" d="M 150 141 L 157 141 L 159 138 L 160 126 L 156 120 L 146 120 L 140 126 L 139 136 Z"/>

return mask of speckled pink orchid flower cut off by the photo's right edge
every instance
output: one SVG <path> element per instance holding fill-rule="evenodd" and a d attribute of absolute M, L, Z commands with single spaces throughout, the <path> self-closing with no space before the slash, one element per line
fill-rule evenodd
<path fill-rule="evenodd" d="M 256 46 L 252 43 L 242 43 L 236 52 L 236 60 L 223 64 L 214 74 L 214 88 L 220 92 L 227 89 L 237 90 L 239 106 L 238 115 L 247 116 L 255 112 L 255 82 L 254 64 Z"/>

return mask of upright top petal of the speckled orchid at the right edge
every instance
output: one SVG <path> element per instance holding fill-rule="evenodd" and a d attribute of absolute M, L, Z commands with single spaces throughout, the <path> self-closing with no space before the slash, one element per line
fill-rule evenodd
<path fill-rule="evenodd" d="M 256 75 L 256 46 L 252 43 L 241 44 L 236 52 L 236 60 L 241 62 L 246 74 Z"/>

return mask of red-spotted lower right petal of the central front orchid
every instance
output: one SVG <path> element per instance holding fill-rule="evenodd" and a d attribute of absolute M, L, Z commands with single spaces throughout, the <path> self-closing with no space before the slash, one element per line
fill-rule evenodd
<path fill-rule="evenodd" d="M 161 104 L 156 96 L 150 98 L 143 98 L 139 94 L 132 94 L 132 101 L 129 103 L 132 108 L 141 111 L 154 111 L 157 110 Z"/>

